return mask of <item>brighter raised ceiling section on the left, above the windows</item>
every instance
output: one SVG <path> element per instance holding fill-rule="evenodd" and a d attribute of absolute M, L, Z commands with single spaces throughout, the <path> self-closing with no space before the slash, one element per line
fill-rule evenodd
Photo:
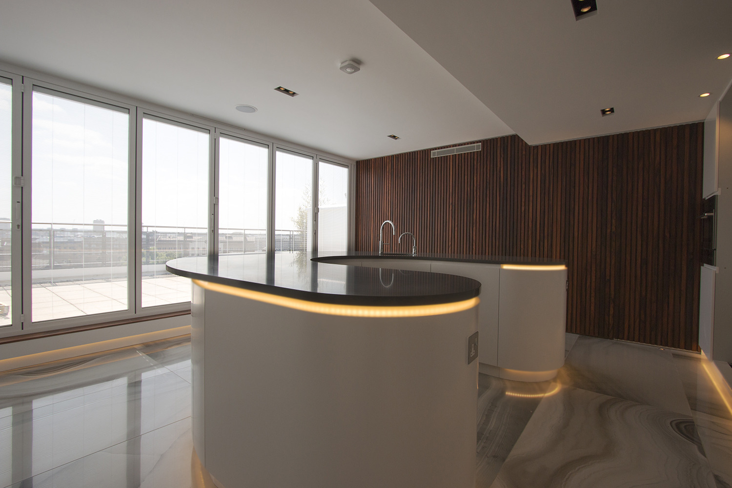
<path fill-rule="evenodd" d="M 367 0 L 0 0 L 0 60 L 352 159 L 514 132 Z"/>

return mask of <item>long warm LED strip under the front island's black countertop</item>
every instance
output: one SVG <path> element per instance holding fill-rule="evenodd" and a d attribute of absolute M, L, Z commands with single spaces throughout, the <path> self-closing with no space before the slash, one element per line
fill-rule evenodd
<path fill-rule="evenodd" d="M 443 315 L 447 313 L 462 312 L 463 310 L 477 307 L 480 303 L 478 297 L 469 300 L 455 301 L 449 304 L 436 305 L 411 305 L 408 307 L 370 307 L 368 305 L 337 305 L 322 304 L 317 301 L 291 299 L 287 296 L 272 295 L 261 291 L 246 290 L 235 286 L 220 285 L 193 279 L 193 282 L 205 290 L 217 291 L 228 295 L 240 296 L 242 299 L 264 301 L 280 307 L 302 310 L 303 312 L 321 313 L 325 315 L 342 315 L 343 317 L 425 317 L 426 315 Z"/>

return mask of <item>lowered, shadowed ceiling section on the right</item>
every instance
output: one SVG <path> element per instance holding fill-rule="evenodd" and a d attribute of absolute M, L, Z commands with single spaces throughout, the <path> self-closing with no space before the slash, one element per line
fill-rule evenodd
<path fill-rule="evenodd" d="M 372 1 L 529 144 L 705 119 L 732 78 L 730 0 Z"/>

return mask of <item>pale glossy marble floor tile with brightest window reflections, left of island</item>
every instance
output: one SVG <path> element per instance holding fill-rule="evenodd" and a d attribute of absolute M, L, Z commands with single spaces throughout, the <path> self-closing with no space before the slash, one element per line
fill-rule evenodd
<path fill-rule="evenodd" d="M 3 486 L 188 418 L 190 395 L 190 382 L 135 348 L 0 374 L 0 414 L 12 416 L 8 432 L 0 420 L 0 450 L 10 443 L 23 459 Z"/>

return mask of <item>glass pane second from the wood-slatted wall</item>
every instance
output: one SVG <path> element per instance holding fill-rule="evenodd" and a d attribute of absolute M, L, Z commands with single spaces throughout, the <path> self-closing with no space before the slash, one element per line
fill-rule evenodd
<path fill-rule="evenodd" d="M 277 151 L 275 251 L 309 251 L 313 222 L 313 159 Z"/>

